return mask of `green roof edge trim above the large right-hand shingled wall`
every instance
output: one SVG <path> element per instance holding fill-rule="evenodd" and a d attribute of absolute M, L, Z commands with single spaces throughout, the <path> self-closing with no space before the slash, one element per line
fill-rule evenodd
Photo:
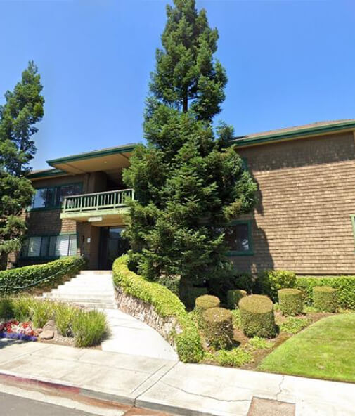
<path fill-rule="evenodd" d="M 290 131 L 283 131 L 280 133 L 273 133 L 273 134 L 263 134 L 260 136 L 240 136 L 234 138 L 231 141 L 231 144 L 235 144 L 237 146 L 244 146 L 244 145 L 251 145 L 251 144 L 258 144 L 258 143 L 266 143 L 269 141 L 279 141 L 283 140 L 284 138 L 297 138 L 302 136 L 309 136 L 312 134 L 325 134 L 331 131 L 340 131 L 345 129 L 355 129 L 355 121 L 351 120 L 349 122 L 343 123 L 330 123 L 330 124 L 321 124 L 319 126 L 310 126 L 304 129 L 295 129 Z"/>

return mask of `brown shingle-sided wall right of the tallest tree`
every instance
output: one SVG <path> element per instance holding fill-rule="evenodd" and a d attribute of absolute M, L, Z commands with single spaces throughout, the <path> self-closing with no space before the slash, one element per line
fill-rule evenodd
<path fill-rule="evenodd" d="M 353 133 L 242 148 L 259 186 L 252 216 L 254 256 L 241 271 L 285 268 L 299 274 L 355 274 Z"/>

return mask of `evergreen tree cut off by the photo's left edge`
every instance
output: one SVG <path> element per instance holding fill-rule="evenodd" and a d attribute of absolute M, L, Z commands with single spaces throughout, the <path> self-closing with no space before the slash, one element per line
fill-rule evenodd
<path fill-rule="evenodd" d="M 5 268 L 9 252 L 20 248 L 25 221 L 20 217 L 34 193 L 25 177 L 36 148 L 34 125 L 44 115 L 44 98 L 36 65 L 30 62 L 13 91 L 5 93 L 0 106 L 0 268 Z"/>

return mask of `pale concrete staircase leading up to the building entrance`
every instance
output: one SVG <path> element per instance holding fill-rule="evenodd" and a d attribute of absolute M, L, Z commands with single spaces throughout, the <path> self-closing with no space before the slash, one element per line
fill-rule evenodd
<path fill-rule="evenodd" d="M 117 309 L 110 271 L 81 271 L 75 278 L 42 296 L 86 308 Z"/>

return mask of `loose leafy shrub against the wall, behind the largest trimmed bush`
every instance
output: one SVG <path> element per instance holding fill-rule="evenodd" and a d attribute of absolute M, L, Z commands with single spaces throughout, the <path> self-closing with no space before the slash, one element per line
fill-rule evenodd
<path fill-rule="evenodd" d="M 259 273 L 255 282 L 255 292 L 266 294 L 273 301 L 278 300 L 278 290 L 295 287 L 296 275 L 286 270 L 266 270 Z"/>

